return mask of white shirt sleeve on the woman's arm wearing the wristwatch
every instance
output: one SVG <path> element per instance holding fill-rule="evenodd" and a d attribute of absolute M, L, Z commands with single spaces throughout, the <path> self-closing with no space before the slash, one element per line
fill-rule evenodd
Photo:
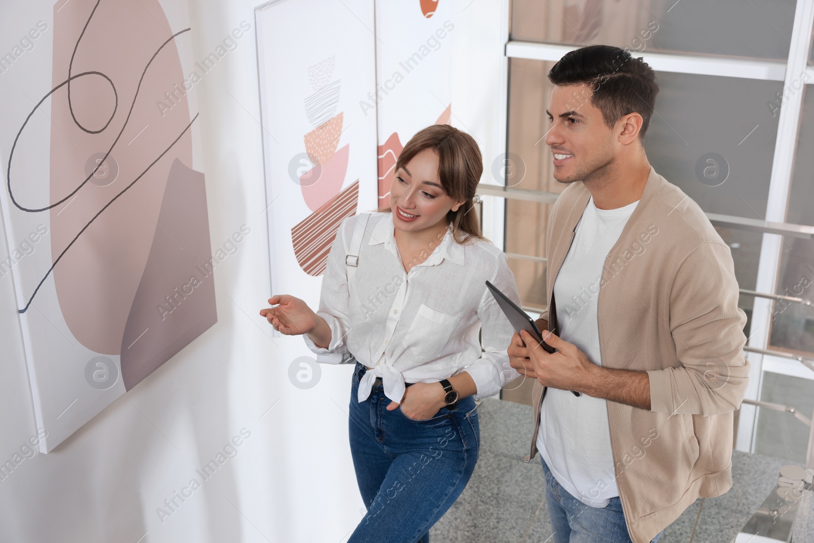
<path fill-rule="evenodd" d="M 506 262 L 505 254 L 500 252 L 496 258 L 497 269 L 490 282 L 515 304 L 520 305 L 517 283 Z M 509 355 L 506 353 L 514 334 L 514 328 L 500 306 L 497 305 L 495 297 L 486 288 L 485 283 L 484 295 L 481 296 L 478 304 L 478 317 L 484 352 L 478 360 L 470 366 L 466 366 L 466 371 L 477 387 L 476 400 L 497 394 L 505 383 L 519 376 L 517 370 L 509 365 Z"/>

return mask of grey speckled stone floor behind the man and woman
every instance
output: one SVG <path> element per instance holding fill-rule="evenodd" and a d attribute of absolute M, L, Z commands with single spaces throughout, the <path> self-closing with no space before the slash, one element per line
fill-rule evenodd
<path fill-rule="evenodd" d="M 430 532 L 432 543 L 551 541 L 537 458 L 523 458 L 533 431 L 532 408 L 488 399 L 479 406 L 481 449 L 472 479 Z M 785 460 L 733 453 L 733 487 L 702 498 L 666 528 L 659 543 L 731 543 L 777 484 Z M 814 493 L 807 492 L 794 524 L 795 543 L 814 543 Z M 807 513 L 807 514 L 806 514 Z"/>

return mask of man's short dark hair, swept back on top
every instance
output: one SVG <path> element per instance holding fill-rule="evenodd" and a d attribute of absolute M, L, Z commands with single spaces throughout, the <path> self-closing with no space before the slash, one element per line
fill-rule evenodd
<path fill-rule="evenodd" d="M 659 94 L 656 74 L 641 58 L 614 46 L 587 46 L 573 50 L 549 72 L 554 85 L 586 84 L 593 89 L 591 103 L 608 128 L 628 113 L 641 115 L 639 137 L 644 138 Z"/>

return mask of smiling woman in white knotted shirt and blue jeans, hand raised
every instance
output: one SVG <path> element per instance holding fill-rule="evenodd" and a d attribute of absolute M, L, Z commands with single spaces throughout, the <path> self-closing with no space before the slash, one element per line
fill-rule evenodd
<path fill-rule="evenodd" d="M 260 311 L 282 334 L 304 335 L 317 361 L 347 351 L 356 363 L 349 433 L 367 513 L 349 543 L 430 541 L 475 469 L 475 398 L 518 375 L 506 354 L 513 330 L 485 286 L 519 303 L 505 255 L 480 234 L 482 171 L 470 135 L 422 129 L 396 161 L 390 208 L 339 227 L 319 311 L 288 295 Z"/>

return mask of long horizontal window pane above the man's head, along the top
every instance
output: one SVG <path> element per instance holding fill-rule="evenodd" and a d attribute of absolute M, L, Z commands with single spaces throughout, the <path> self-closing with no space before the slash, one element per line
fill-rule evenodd
<path fill-rule="evenodd" d="M 785 60 L 794 0 L 512 0 L 511 39 Z"/>

